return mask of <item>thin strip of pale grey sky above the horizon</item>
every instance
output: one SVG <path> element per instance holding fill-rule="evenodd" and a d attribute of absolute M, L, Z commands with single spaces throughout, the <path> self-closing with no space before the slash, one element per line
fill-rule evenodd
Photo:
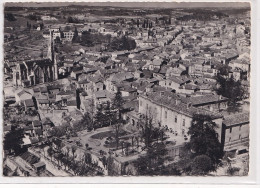
<path fill-rule="evenodd" d="M 115 7 L 157 7 L 157 8 L 185 8 L 185 7 L 249 7 L 250 3 L 246 2 L 59 2 L 59 3 L 5 3 L 5 6 L 22 6 L 22 7 L 53 7 L 68 5 L 88 5 L 88 6 L 115 6 Z"/>

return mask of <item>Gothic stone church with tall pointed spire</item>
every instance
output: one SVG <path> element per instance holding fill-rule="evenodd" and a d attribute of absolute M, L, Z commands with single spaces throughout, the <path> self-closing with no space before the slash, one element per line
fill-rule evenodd
<path fill-rule="evenodd" d="M 52 37 L 49 39 L 47 56 L 47 58 L 22 61 L 17 64 L 13 70 L 13 84 L 15 86 L 30 87 L 57 80 L 58 65 Z"/>

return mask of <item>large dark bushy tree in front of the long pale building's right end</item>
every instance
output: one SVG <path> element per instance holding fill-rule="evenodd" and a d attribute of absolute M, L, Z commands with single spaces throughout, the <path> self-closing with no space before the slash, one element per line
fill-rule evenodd
<path fill-rule="evenodd" d="M 223 148 L 218 140 L 216 128 L 217 125 L 210 116 L 193 116 L 188 131 L 190 141 L 183 148 L 181 160 L 177 163 L 182 173 L 205 175 L 216 170 L 223 157 Z"/>

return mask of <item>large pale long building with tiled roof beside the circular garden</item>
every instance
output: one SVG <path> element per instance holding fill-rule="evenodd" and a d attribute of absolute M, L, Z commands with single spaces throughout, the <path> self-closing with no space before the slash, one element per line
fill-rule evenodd
<path fill-rule="evenodd" d="M 195 114 L 212 117 L 218 125 L 219 140 L 221 139 L 222 115 L 202 108 L 192 106 L 192 103 L 167 91 L 145 93 L 139 96 L 139 113 L 153 117 L 156 125 L 167 127 L 178 135 L 187 135 Z"/>

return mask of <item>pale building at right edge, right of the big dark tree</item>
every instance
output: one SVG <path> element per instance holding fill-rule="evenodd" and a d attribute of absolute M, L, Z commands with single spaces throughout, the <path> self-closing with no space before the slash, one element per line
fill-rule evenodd
<path fill-rule="evenodd" d="M 224 150 L 238 149 L 249 144 L 249 112 L 224 117 L 222 144 Z"/>

